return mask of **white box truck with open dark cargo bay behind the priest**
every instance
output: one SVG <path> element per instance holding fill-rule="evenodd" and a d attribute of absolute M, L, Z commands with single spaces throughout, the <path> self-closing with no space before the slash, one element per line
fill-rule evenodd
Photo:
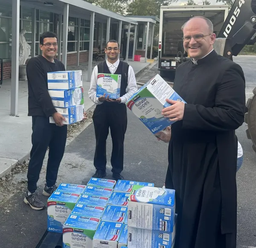
<path fill-rule="evenodd" d="M 169 77 L 177 66 L 189 59 L 183 48 L 182 26 L 191 17 L 204 16 L 212 21 L 218 36 L 228 15 L 227 5 L 161 6 L 159 28 L 158 70 L 161 77 Z"/>

